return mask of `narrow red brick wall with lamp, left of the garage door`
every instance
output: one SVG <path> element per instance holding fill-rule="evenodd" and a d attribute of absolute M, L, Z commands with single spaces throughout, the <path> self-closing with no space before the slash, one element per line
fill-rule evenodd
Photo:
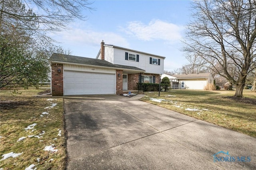
<path fill-rule="evenodd" d="M 63 64 L 52 63 L 52 96 L 63 96 Z"/>

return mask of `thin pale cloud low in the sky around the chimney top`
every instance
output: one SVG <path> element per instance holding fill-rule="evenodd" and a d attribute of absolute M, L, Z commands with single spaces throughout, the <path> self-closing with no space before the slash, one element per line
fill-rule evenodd
<path fill-rule="evenodd" d="M 96 46 L 99 47 L 100 42 L 104 40 L 107 44 L 118 44 L 122 47 L 129 47 L 129 43 L 126 39 L 113 32 L 97 32 L 88 29 L 72 29 L 68 31 L 62 31 L 58 35 L 54 36 L 54 39 L 61 43 Z"/>

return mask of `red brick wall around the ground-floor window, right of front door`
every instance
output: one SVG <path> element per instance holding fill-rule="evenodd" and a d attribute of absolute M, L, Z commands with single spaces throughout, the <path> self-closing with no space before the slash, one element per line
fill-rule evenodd
<path fill-rule="evenodd" d="M 128 74 L 128 90 L 138 90 L 137 83 L 139 82 L 139 75 L 137 74 Z M 145 76 L 156 76 L 156 83 L 159 83 L 160 81 L 160 75 L 159 74 L 142 74 Z"/>

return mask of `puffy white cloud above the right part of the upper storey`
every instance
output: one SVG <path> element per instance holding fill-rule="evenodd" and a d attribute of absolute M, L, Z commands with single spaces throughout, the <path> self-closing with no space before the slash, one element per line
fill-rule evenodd
<path fill-rule="evenodd" d="M 152 20 L 148 24 L 141 21 L 131 21 L 122 30 L 128 35 L 144 41 L 165 40 L 173 42 L 182 38 L 183 27 L 161 20 Z"/>

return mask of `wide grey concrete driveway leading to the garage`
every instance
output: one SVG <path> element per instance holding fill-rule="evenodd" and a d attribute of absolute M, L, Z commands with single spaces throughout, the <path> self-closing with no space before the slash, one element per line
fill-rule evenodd
<path fill-rule="evenodd" d="M 255 138 L 142 96 L 64 97 L 66 169 L 256 169 Z"/>

